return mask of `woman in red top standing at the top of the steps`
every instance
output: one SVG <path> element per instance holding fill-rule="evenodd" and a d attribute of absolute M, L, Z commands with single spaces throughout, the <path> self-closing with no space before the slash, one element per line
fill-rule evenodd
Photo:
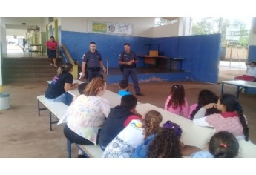
<path fill-rule="evenodd" d="M 53 36 L 50 36 L 50 40 L 46 42 L 47 56 L 50 60 L 50 65 L 57 67 L 56 65 L 56 53 L 59 50 L 58 42 L 55 41 Z"/>

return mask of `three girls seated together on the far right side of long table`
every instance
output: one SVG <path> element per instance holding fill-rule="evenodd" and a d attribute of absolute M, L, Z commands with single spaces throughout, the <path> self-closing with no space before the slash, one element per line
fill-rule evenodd
<path fill-rule="evenodd" d="M 223 94 L 218 98 L 210 90 L 201 90 L 197 104 L 191 105 L 188 112 L 184 87 L 173 85 L 171 95 L 165 102 L 165 110 L 191 119 L 196 125 L 213 127 L 216 131 L 229 131 L 237 139 L 249 140 L 246 116 L 234 95 Z"/>

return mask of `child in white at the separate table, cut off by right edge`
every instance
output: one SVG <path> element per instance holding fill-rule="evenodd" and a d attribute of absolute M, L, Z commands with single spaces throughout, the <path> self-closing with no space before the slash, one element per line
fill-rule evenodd
<path fill-rule="evenodd" d="M 256 79 L 256 62 L 247 62 L 247 72 L 246 75 L 243 76 L 236 76 L 234 79 L 239 79 L 239 80 L 245 80 L 249 82 L 255 82 Z"/>

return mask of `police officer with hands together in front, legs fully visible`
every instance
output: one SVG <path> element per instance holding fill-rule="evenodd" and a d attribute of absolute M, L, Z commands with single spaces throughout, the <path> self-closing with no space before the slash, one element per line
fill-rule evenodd
<path fill-rule="evenodd" d="M 125 81 L 128 81 L 129 76 L 134 83 L 134 89 L 137 96 L 143 96 L 140 92 L 139 82 L 136 73 L 136 63 L 138 62 L 136 53 L 131 51 L 130 44 L 124 44 L 125 51 L 119 55 L 119 65 L 122 66 L 122 76 Z"/>

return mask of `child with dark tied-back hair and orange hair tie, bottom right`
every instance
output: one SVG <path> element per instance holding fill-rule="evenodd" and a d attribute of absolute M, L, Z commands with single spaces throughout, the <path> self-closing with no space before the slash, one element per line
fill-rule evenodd
<path fill-rule="evenodd" d="M 237 157 L 239 143 L 228 131 L 215 133 L 206 145 L 205 151 L 193 153 L 191 158 L 234 158 Z"/>

